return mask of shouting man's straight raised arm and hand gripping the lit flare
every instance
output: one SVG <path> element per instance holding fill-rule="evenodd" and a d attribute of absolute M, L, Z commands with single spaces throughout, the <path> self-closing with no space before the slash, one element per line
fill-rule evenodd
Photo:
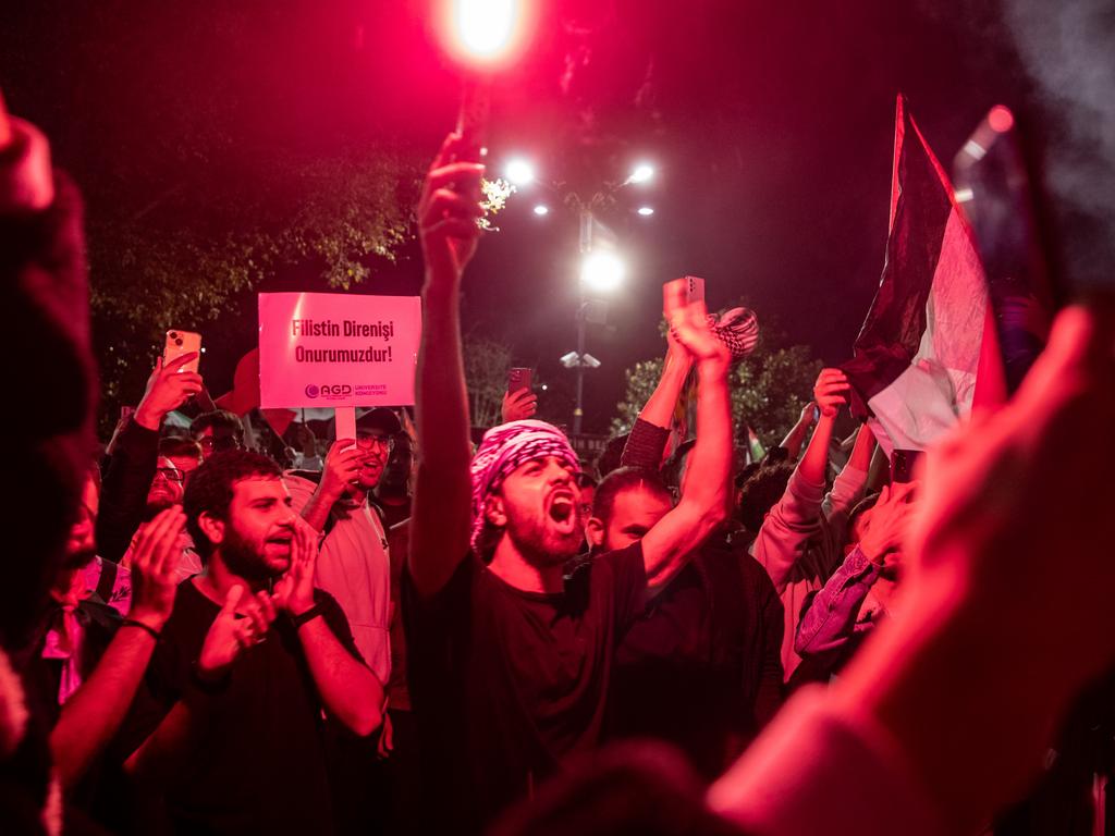
<path fill-rule="evenodd" d="M 426 175 L 418 223 L 426 281 L 416 395 L 418 470 L 407 567 L 420 595 L 440 590 L 468 553 L 472 458 L 460 353 L 460 276 L 476 251 L 482 165 L 455 162 L 450 134 Z"/>

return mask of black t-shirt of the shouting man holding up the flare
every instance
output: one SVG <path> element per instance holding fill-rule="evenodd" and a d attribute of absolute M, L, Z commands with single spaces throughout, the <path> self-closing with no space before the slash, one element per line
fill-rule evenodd
<path fill-rule="evenodd" d="M 615 644 L 646 589 L 639 544 L 552 595 L 510 586 L 473 555 L 427 600 L 404 576 L 429 826 L 478 829 L 599 741 Z"/>

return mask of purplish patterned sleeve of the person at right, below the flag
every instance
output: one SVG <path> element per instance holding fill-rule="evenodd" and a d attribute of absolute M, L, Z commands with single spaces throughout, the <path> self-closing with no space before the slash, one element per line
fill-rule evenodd
<path fill-rule="evenodd" d="M 854 548 L 802 616 L 794 650 L 803 659 L 842 650 L 851 641 L 860 607 L 878 580 L 879 566 Z"/>

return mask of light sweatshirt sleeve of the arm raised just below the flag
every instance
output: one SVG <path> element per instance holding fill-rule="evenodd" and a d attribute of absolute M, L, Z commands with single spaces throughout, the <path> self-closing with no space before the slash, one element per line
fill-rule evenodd
<path fill-rule="evenodd" d="M 767 571 L 779 595 L 793 580 L 809 538 L 821 529 L 824 489 L 824 485 L 812 485 L 794 470 L 786 493 L 763 521 L 752 544 L 752 554 Z"/>

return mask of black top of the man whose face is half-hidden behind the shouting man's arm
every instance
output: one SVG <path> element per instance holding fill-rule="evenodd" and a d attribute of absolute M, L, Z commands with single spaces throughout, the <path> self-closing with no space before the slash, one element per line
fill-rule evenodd
<path fill-rule="evenodd" d="M 716 778 L 778 707 L 782 633 L 763 567 L 706 544 L 622 635 L 608 736 L 667 740 Z"/>

